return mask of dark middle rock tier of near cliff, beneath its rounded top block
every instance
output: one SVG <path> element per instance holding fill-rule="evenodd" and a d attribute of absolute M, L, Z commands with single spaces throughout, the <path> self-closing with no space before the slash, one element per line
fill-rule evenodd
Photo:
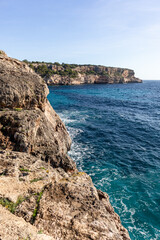
<path fill-rule="evenodd" d="M 66 170 L 75 168 L 74 162 L 67 156 L 71 139 L 48 102 L 44 112 L 40 109 L 4 109 L 0 112 L 0 123 L 3 149 L 9 147 L 14 151 L 40 155 L 53 167 L 61 166 Z"/>

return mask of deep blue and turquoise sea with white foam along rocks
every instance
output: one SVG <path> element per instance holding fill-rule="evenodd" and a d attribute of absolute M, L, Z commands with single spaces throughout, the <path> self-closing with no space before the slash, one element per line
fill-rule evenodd
<path fill-rule="evenodd" d="M 160 81 L 54 86 L 48 99 L 131 239 L 160 239 Z"/>

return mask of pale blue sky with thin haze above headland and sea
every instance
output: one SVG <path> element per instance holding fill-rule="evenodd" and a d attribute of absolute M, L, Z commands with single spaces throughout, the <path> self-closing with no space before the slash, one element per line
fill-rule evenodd
<path fill-rule="evenodd" d="M 0 0 L 0 49 L 160 80 L 160 0 Z"/>

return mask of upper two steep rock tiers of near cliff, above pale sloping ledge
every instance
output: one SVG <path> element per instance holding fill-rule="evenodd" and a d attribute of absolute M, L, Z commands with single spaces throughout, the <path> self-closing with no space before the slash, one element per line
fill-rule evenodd
<path fill-rule="evenodd" d="M 9 138 L 10 149 L 41 155 L 54 166 L 65 157 L 66 168 L 74 168 L 66 157 L 71 139 L 46 98 L 43 79 L 25 63 L 0 54 L 0 85 L 1 139 Z"/>

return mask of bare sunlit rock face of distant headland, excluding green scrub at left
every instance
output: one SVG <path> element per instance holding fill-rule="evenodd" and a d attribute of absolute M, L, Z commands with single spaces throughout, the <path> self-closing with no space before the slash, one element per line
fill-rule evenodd
<path fill-rule="evenodd" d="M 35 65 L 35 70 L 38 65 Z M 50 66 L 48 66 L 50 67 Z M 52 66 L 53 69 L 54 65 Z M 133 70 L 125 68 L 105 67 L 96 65 L 81 65 L 72 69 L 73 74 L 67 74 L 67 68 L 59 66 L 50 77 L 44 76 L 48 85 L 78 85 L 78 84 L 113 84 L 113 83 L 141 83 L 135 77 Z M 63 73 L 66 75 L 63 76 Z"/>

